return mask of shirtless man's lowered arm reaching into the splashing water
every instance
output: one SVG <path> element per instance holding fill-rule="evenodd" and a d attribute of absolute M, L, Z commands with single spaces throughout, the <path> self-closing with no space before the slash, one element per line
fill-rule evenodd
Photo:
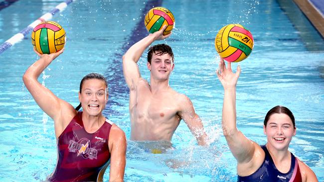
<path fill-rule="evenodd" d="M 193 136 L 196 137 L 198 145 L 208 145 L 208 136 L 204 131 L 200 117 L 194 110 L 191 100 L 185 95 L 181 95 L 181 97 L 181 111 L 179 112 L 180 117 L 187 124 Z"/>

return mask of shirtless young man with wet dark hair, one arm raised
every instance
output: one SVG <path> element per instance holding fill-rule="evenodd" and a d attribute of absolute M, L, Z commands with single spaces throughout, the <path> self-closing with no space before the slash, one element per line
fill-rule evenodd
<path fill-rule="evenodd" d="M 174 68 L 169 46 L 159 44 L 150 48 L 147 63 L 151 72 L 150 84 L 141 77 L 137 62 L 154 41 L 170 36 L 162 35 L 165 28 L 137 42 L 123 56 L 124 77 L 130 89 L 131 139 L 170 142 L 183 119 L 198 145 L 207 145 L 203 124 L 190 99 L 169 86 L 169 76 Z"/>

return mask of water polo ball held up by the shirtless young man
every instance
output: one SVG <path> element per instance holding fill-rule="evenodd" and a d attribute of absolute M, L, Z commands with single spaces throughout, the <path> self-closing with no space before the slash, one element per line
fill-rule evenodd
<path fill-rule="evenodd" d="M 174 26 L 174 16 L 168 9 L 164 7 L 154 7 L 145 15 L 145 27 L 150 33 L 154 33 L 162 29 L 163 25 L 167 25 L 163 35 L 171 32 Z"/>

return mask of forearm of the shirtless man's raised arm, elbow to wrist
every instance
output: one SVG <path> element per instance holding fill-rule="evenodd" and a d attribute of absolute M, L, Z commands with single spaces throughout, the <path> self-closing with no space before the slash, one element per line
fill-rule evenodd
<path fill-rule="evenodd" d="M 136 44 L 134 44 L 129 50 L 125 53 L 124 60 L 133 60 L 135 63 L 139 61 L 143 52 L 156 40 L 155 34 L 149 34 Z"/>

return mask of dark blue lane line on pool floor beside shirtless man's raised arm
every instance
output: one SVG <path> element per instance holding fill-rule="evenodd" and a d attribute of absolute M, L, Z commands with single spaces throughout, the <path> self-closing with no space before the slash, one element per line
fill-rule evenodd
<path fill-rule="evenodd" d="M 112 105 L 122 106 L 117 102 L 117 99 L 125 99 L 128 98 L 129 88 L 127 87 L 124 79 L 123 74 L 123 55 L 126 51 L 136 42 L 140 41 L 144 37 L 148 35 L 148 31 L 144 25 L 145 14 L 153 7 L 161 6 L 162 0 L 148 0 L 146 2 L 145 7 L 142 9 L 141 12 L 141 19 L 137 22 L 135 28 L 132 30 L 131 35 L 125 38 L 125 42 L 122 47 L 116 52 L 113 56 L 113 61 L 110 62 L 111 64 L 107 65 L 107 71 L 105 72 L 104 76 L 108 81 L 108 88 L 109 88 L 109 95 L 112 95 L 113 99 L 108 101 L 106 108 L 103 110 L 103 114 L 105 116 L 109 115 L 125 115 L 125 113 L 120 113 L 118 110 L 112 109 Z M 127 101 L 128 103 L 128 101 Z"/>

